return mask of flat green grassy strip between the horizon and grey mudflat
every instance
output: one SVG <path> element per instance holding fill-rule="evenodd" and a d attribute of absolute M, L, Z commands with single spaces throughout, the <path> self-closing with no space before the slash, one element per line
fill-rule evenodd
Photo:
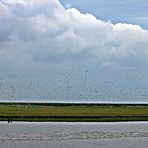
<path fill-rule="evenodd" d="M 0 120 L 147 121 L 148 105 L 0 104 Z"/>

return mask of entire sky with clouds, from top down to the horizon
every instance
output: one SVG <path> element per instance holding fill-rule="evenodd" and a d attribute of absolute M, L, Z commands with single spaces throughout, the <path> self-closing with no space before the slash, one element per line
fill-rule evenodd
<path fill-rule="evenodd" d="M 0 0 L 0 101 L 148 102 L 146 0 Z"/>

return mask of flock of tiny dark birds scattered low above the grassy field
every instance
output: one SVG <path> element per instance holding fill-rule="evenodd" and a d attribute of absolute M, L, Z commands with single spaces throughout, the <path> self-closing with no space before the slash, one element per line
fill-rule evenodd
<path fill-rule="evenodd" d="M 73 68 L 39 77 L 1 77 L 1 101 L 147 101 L 146 73 Z"/>

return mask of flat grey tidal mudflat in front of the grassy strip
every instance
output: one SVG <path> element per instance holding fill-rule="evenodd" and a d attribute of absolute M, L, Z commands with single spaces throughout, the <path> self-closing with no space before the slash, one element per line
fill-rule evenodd
<path fill-rule="evenodd" d="M 147 148 L 148 122 L 0 122 L 0 148 Z"/>

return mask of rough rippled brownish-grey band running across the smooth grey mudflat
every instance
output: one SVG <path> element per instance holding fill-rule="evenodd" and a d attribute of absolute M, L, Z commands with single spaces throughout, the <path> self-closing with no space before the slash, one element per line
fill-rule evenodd
<path fill-rule="evenodd" d="M 148 137 L 148 132 L 74 132 L 74 133 L 36 133 L 36 134 L 26 134 L 26 133 L 10 133 L 6 135 L 0 135 L 0 141 L 30 141 L 30 140 L 41 140 L 41 141 L 51 141 L 51 140 L 69 140 L 69 139 L 112 139 L 112 138 L 137 138 L 137 137 Z"/>

